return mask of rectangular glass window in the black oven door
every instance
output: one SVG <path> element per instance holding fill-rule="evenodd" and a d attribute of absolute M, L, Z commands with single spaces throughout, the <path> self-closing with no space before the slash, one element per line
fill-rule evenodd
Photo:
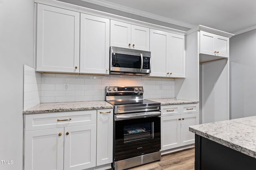
<path fill-rule="evenodd" d="M 124 126 L 124 143 L 154 139 L 154 122 Z"/>

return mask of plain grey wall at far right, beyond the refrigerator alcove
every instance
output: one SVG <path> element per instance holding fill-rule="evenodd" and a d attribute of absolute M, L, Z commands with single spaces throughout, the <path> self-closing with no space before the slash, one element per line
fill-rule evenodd
<path fill-rule="evenodd" d="M 256 115 L 256 29 L 230 38 L 230 119 Z"/>

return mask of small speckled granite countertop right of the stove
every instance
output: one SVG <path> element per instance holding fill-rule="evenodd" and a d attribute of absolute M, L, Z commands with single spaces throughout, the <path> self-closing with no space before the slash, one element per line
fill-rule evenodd
<path fill-rule="evenodd" d="M 193 104 L 199 103 L 198 101 L 176 99 L 176 98 L 166 98 L 166 99 L 148 99 L 154 102 L 159 102 L 161 105 L 174 105 L 174 104 Z"/>

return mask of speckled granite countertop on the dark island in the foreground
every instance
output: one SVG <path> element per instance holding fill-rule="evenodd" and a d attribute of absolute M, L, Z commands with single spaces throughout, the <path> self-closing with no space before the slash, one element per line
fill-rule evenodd
<path fill-rule="evenodd" d="M 256 116 L 193 125 L 189 131 L 256 158 Z"/>

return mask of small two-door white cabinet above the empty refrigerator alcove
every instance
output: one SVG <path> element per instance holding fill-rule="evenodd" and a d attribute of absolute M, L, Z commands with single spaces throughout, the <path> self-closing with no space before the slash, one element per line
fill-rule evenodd
<path fill-rule="evenodd" d="M 229 57 L 229 38 L 200 31 L 200 53 Z"/>

